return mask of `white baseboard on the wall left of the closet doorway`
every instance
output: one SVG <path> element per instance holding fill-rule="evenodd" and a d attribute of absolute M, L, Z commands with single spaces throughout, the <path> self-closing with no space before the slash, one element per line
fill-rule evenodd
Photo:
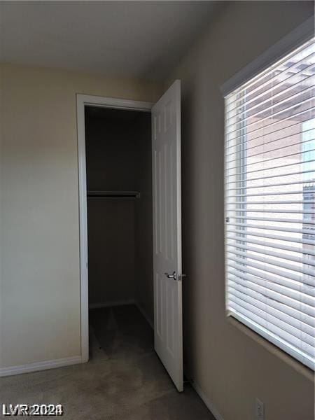
<path fill-rule="evenodd" d="M 38 370 L 53 369 L 55 367 L 64 367 L 82 363 L 81 356 L 66 357 L 55 360 L 45 360 L 44 362 L 28 363 L 27 365 L 18 365 L 10 367 L 0 367 L 0 377 L 12 376 L 14 374 L 36 372 Z"/>

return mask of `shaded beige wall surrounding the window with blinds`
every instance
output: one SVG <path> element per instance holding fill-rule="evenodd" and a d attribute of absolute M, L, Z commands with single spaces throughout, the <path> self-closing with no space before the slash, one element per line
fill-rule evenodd
<path fill-rule="evenodd" d="M 225 420 L 314 419 L 314 384 L 225 317 L 221 85 L 313 12 L 301 1 L 226 3 L 167 82 L 183 87 L 184 358 Z M 298 363 L 296 363 L 298 366 Z M 306 370 L 306 369 L 305 369 Z M 311 377 L 311 373 L 309 373 Z"/>

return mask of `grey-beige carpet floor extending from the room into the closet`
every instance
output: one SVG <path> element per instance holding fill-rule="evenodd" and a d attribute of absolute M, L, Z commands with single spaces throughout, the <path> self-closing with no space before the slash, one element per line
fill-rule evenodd
<path fill-rule="evenodd" d="M 176 391 L 136 306 L 90 311 L 90 353 L 82 365 L 1 378 L 1 404 L 59 403 L 73 420 L 214 420 L 189 384 Z"/>

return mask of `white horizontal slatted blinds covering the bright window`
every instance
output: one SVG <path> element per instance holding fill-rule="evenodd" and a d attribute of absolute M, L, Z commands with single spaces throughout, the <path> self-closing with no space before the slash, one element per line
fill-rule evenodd
<path fill-rule="evenodd" d="M 225 97 L 228 314 L 313 370 L 314 45 Z"/>

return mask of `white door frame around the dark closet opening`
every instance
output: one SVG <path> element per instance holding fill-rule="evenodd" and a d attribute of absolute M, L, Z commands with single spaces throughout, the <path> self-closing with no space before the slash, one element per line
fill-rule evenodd
<path fill-rule="evenodd" d="M 78 134 L 78 204 L 80 239 L 80 335 L 81 362 L 89 360 L 89 297 L 87 272 L 87 188 L 85 156 L 85 106 L 150 112 L 154 102 L 134 101 L 113 97 L 76 94 L 76 118 Z"/>

